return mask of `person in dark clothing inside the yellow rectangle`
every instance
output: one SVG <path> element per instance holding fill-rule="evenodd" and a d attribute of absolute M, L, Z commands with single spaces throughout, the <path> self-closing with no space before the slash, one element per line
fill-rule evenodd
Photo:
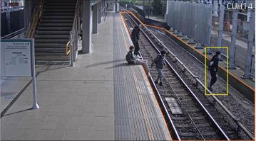
<path fill-rule="evenodd" d="M 212 79 L 210 79 L 210 86 L 208 86 L 208 89 L 210 91 L 213 91 L 213 84 L 215 84 L 215 82 L 217 81 L 217 67 L 219 64 L 219 56 L 220 56 L 220 52 L 217 51 L 215 53 L 215 55 L 213 55 L 212 59 L 210 60 L 210 63 L 208 65 L 208 69 L 210 69 L 210 77 L 212 77 Z"/>

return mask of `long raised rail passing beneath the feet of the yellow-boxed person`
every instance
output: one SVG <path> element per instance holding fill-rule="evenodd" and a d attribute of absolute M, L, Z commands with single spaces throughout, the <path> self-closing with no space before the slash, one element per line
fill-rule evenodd
<path fill-rule="evenodd" d="M 130 13 L 134 16 L 133 13 Z M 134 16 L 135 17 L 135 16 Z M 208 91 L 209 94 L 213 94 L 209 89 L 207 89 L 205 87 L 205 85 L 200 81 L 200 79 L 198 79 L 198 77 L 195 76 L 195 74 L 193 74 L 193 72 L 190 71 L 190 69 L 188 69 L 188 67 L 186 67 L 186 64 L 183 64 L 183 62 L 181 62 L 178 57 L 176 57 L 173 52 L 171 52 L 168 47 L 166 47 L 163 43 L 160 42 L 160 40 L 158 38 L 155 37 L 155 35 L 137 18 L 135 17 L 142 25 L 144 28 L 146 28 L 148 30 L 148 32 L 153 35 L 153 37 L 158 40 L 158 42 L 163 45 L 163 47 L 165 47 L 166 50 L 168 50 L 168 52 L 170 52 L 171 55 L 173 55 L 173 57 L 175 57 L 175 60 L 177 60 L 183 67 L 186 71 L 188 71 L 188 73 L 198 82 L 198 84 L 200 84 L 200 86 L 203 86 L 203 88 L 206 89 L 206 91 Z M 166 31 L 165 28 L 160 28 L 160 29 L 163 29 Z M 169 33 L 169 32 L 168 32 Z M 245 132 L 245 134 L 250 137 L 251 140 L 254 140 L 254 136 L 250 133 L 249 130 L 247 130 L 247 128 L 245 128 L 245 125 L 242 124 L 242 122 L 234 115 L 232 114 L 225 106 L 224 104 L 216 97 L 216 96 L 213 96 L 211 95 L 214 100 L 220 105 L 220 107 L 228 114 L 230 115 L 230 118 L 232 118 L 232 120 L 235 121 L 235 123 L 237 123 L 237 125 Z"/>

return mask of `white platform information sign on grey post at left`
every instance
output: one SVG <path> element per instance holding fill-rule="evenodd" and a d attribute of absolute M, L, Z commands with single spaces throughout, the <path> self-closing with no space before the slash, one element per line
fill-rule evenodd
<path fill-rule="evenodd" d="M 32 109 L 39 108 L 36 102 L 34 39 L 1 39 L 1 76 L 32 77 Z"/>

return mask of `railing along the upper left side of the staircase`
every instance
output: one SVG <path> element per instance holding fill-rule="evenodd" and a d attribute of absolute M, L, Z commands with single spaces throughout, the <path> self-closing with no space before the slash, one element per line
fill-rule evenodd
<path fill-rule="evenodd" d="M 26 38 L 34 38 L 36 27 L 39 24 L 39 19 L 43 11 L 44 0 L 40 0 L 39 4 L 34 9 L 33 16 L 30 19 L 29 26 L 26 28 Z"/>

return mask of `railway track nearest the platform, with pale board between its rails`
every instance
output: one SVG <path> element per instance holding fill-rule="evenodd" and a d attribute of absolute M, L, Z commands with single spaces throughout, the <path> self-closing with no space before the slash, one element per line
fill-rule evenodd
<path fill-rule="evenodd" d="M 124 18 L 130 30 L 137 24 L 127 13 L 124 14 Z M 153 57 L 164 47 L 155 40 L 147 28 L 142 26 L 141 31 L 143 34 L 140 35 L 140 53 L 150 64 Z M 169 123 L 173 125 L 172 130 L 177 134 L 176 140 L 240 140 L 235 127 L 232 127 L 217 109 L 210 108 L 213 103 L 205 97 L 204 91 L 198 89 L 197 82 L 189 77 L 180 77 L 185 70 L 180 69 L 178 65 L 172 65 L 177 60 L 167 55 L 166 62 L 168 65 L 163 69 L 165 86 L 156 86 L 156 89 L 163 105 L 168 107 L 166 114 L 171 120 Z M 153 78 L 158 75 L 155 69 L 150 69 L 150 74 Z M 191 87 L 193 89 L 190 89 Z M 173 104 L 177 104 L 178 107 L 173 108 Z"/>

